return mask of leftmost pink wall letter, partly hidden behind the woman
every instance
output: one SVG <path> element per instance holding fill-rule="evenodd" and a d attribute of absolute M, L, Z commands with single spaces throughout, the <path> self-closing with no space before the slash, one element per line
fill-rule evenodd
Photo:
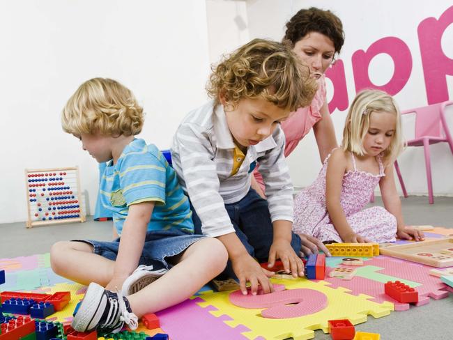
<path fill-rule="evenodd" d="M 337 60 L 335 64 L 325 72 L 325 77 L 330 79 L 334 88 L 333 97 L 329 102 L 329 112 L 332 113 L 335 109 L 339 109 L 339 111 L 346 110 L 349 102 L 343 61 Z"/>

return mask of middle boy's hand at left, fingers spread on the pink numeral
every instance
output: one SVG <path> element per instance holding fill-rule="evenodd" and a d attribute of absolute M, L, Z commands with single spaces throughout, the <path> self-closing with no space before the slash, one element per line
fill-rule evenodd
<path fill-rule="evenodd" d="M 231 258 L 231 264 L 233 265 L 234 273 L 239 279 L 239 288 L 243 295 L 247 295 L 247 282 L 250 282 L 252 295 L 256 295 L 259 285 L 265 294 L 274 291 L 269 277 L 275 275 L 275 272 L 261 268 L 261 265 L 249 254 L 246 253 L 243 256 Z"/>

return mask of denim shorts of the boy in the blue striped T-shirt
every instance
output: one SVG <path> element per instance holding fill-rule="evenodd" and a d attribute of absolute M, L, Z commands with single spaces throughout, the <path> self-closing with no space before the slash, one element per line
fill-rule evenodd
<path fill-rule="evenodd" d="M 170 269 L 173 264 L 168 263 L 167 258 L 180 254 L 194 242 L 205 237 L 204 235 L 185 233 L 178 229 L 148 231 L 143 250 L 141 251 L 139 265 L 153 265 L 154 270 L 162 268 Z M 72 241 L 88 243 L 93 246 L 93 252 L 95 254 L 112 261 L 116 260 L 120 245 L 120 238 L 110 242 L 96 240 Z"/>

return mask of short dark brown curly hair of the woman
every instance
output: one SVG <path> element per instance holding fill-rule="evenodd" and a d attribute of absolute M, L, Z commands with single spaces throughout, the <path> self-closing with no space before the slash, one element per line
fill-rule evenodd
<path fill-rule="evenodd" d="M 286 32 L 283 40 L 289 40 L 295 45 L 310 32 L 318 32 L 332 40 L 335 52 L 339 53 L 344 44 L 343 24 L 337 15 L 330 10 L 316 7 L 299 10 L 286 22 Z"/>

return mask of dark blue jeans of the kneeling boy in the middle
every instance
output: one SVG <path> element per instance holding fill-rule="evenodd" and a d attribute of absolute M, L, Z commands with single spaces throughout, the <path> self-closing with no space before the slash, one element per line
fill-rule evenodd
<path fill-rule="evenodd" d="M 192 209 L 195 233 L 201 234 L 201 220 L 192 204 L 190 208 Z M 259 263 L 268 262 L 269 250 L 274 237 L 268 201 L 261 198 L 255 190 L 250 188 L 243 199 L 236 203 L 225 204 L 225 208 L 236 235 L 250 256 L 256 258 Z M 299 254 L 301 247 L 300 237 L 293 232 L 291 233 L 291 247 L 293 247 L 295 254 Z M 236 278 L 231 268 L 231 261 L 228 261 L 227 269 L 222 274 L 222 279 L 223 277 Z"/>

